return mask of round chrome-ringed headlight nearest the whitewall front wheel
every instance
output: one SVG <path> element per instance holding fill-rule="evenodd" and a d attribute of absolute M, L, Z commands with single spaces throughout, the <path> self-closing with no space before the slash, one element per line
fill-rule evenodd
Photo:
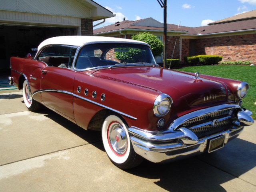
<path fill-rule="evenodd" d="M 154 102 L 154 114 L 158 117 L 166 115 L 170 111 L 171 105 L 172 98 L 167 94 L 160 94 Z"/>

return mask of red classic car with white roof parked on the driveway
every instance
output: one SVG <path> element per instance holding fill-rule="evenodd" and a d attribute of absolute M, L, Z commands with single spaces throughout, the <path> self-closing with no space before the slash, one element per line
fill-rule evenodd
<path fill-rule="evenodd" d="M 122 169 L 213 152 L 254 123 L 241 107 L 246 82 L 162 68 L 145 42 L 54 37 L 34 58 L 12 57 L 11 71 L 29 110 L 44 105 L 101 131 Z"/>

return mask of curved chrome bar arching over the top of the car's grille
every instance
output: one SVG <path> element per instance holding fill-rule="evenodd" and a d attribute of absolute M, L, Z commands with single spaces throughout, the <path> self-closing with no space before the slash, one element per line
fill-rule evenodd
<path fill-rule="evenodd" d="M 231 109 L 231 108 L 241 108 L 241 106 L 237 105 L 237 104 L 222 104 L 222 105 L 218 105 L 218 106 L 214 106 L 214 107 L 208 107 L 208 108 L 204 108 L 204 109 L 200 109 L 194 112 L 191 112 L 189 114 L 183 115 L 179 118 L 177 118 L 176 120 L 174 120 L 170 126 L 169 126 L 169 130 L 176 130 L 176 128 L 178 128 L 178 126 L 180 126 L 180 124 L 192 119 L 192 118 L 196 118 L 198 116 L 202 116 L 202 115 L 206 115 L 212 112 L 216 112 L 216 111 L 220 111 L 220 110 L 226 110 L 226 109 Z"/>

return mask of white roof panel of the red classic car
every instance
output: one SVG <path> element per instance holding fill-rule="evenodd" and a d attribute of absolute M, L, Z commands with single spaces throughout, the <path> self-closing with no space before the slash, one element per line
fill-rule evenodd
<path fill-rule="evenodd" d="M 114 38 L 114 37 L 102 37 L 102 36 L 58 36 L 52 37 L 49 39 L 44 40 L 38 46 L 38 51 L 46 46 L 46 45 L 70 45 L 70 46 L 82 46 L 85 43 L 93 43 L 93 42 L 130 42 L 130 43 L 140 43 L 148 45 L 145 42 L 131 40 L 131 39 L 124 39 L 124 38 Z"/>

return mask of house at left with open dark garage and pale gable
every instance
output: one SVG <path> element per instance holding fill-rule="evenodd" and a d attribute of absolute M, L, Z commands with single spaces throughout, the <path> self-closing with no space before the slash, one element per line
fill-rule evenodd
<path fill-rule="evenodd" d="M 6 74 L 11 56 L 25 57 L 50 37 L 93 35 L 93 21 L 114 16 L 92 0 L 4 2 L 0 3 L 0 73 Z"/>

